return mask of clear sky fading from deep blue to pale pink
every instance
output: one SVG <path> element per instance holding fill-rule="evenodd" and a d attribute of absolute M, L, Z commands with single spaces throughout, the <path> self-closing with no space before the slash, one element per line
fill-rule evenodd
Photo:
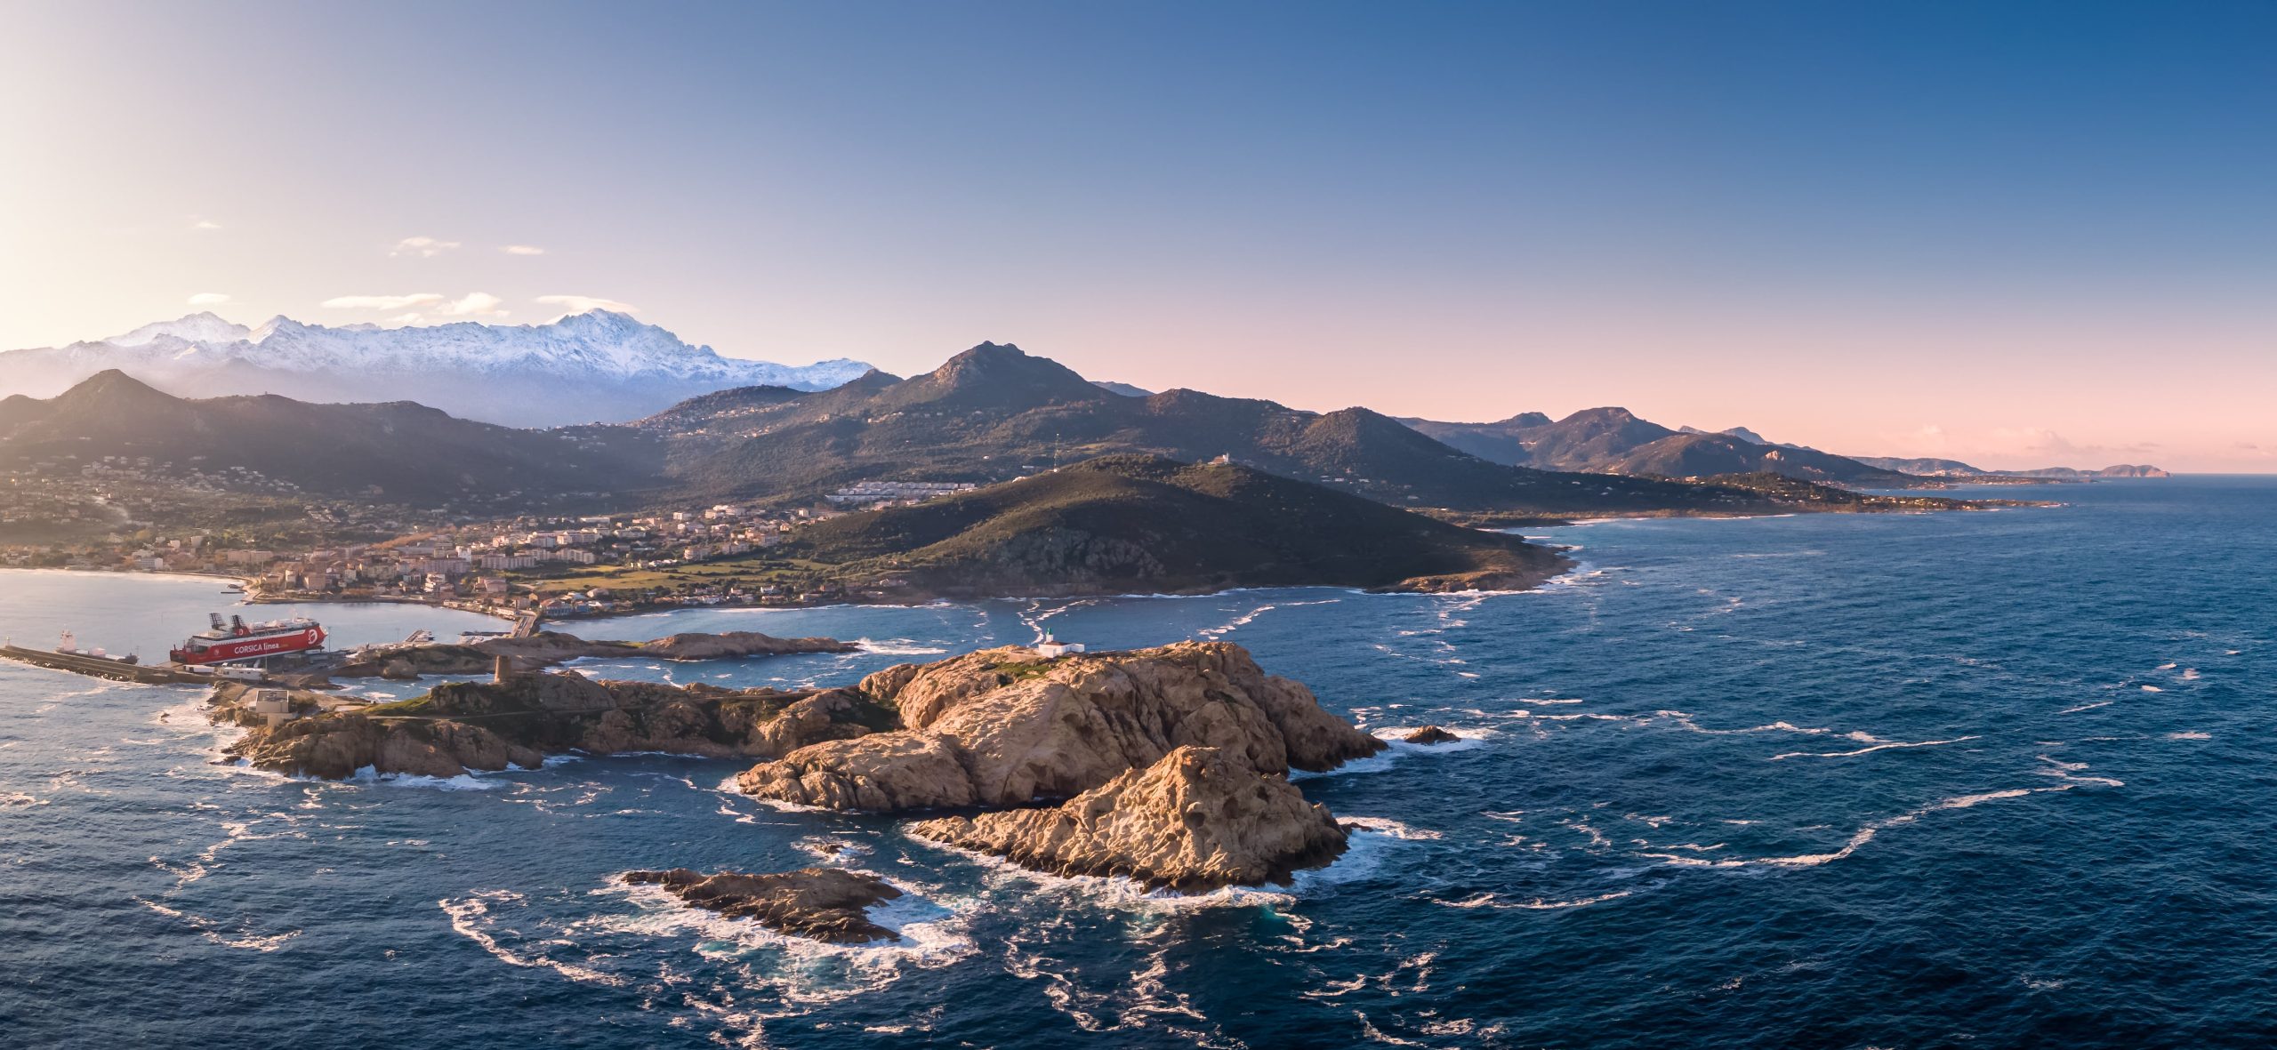
<path fill-rule="evenodd" d="M 2277 471 L 2277 5 L 9 0 L 0 348 L 214 310 Z"/>

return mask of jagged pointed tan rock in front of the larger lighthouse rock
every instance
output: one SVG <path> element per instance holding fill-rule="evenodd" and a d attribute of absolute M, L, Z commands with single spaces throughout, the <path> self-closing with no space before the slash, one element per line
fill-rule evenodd
<path fill-rule="evenodd" d="M 1054 809 L 920 820 L 909 831 L 1052 875 L 1175 891 L 1287 884 L 1346 847 L 1325 806 L 1216 747 L 1177 747 Z"/>

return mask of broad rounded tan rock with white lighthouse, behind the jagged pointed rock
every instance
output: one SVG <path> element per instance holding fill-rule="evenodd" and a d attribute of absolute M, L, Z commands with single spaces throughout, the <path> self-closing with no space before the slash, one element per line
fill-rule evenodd
<path fill-rule="evenodd" d="M 790 752 L 738 786 L 827 809 L 1020 806 L 1079 795 L 1189 745 L 1266 774 L 1330 770 L 1384 747 L 1227 642 L 1052 661 L 986 649 L 890 667 L 854 692 L 899 711 L 902 729 Z"/>

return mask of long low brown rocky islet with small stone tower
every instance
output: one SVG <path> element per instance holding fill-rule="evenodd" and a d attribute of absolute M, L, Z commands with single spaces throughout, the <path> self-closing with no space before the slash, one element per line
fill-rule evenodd
<path fill-rule="evenodd" d="M 303 717 L 276 727 L 239 706 L 244 692 L 230 686 L 214 692 L 209 717 L 248 729 L 228 754 L 262 770 L 326 779 L 364 765 L 455 777 L 533 768 L 562 752 L 774 758 L 893 724 L 890 711 L 849 690 L 724 690 L 583 674 L 444 683 L 364 711 L 317 713 L 314 704 L 296 704 Z"/>

